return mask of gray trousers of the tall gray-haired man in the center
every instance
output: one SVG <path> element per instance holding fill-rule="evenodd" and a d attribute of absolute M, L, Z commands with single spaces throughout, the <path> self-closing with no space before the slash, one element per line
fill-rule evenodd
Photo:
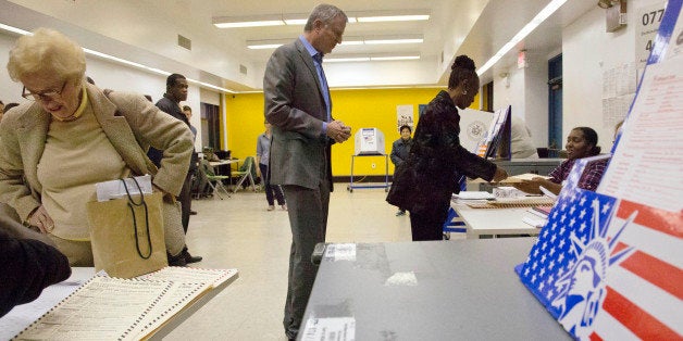
<path fill-rule="evenodd" d="M 311 254 L 316 243 L 325 241 L 330 185 L 323 179 L 316 189 L 291 185 L 283 186 L 283 189 L 287 197 L 291 227 L 287 301 L 283 324 L 287 338 L 294 339 L 299 332 L 318 274 L 318 266 L 311 262 Z"/>

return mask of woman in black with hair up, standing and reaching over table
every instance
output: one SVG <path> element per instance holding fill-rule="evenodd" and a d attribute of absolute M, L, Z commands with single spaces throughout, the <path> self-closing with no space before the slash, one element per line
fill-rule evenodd
<path fill-rule="evenodd" d="M 410 211 L 413 241 L 443 240 L 452 193 L 460 192 L 461 176 L 499 181 L 508 174 L 493 162 L 460 146 L 460 116 L 479 92 L 474 61 L 458 55 L 448 90 L 427 104 L 418 121 L 408 160 L 394 172 L 387 201 Z"/>

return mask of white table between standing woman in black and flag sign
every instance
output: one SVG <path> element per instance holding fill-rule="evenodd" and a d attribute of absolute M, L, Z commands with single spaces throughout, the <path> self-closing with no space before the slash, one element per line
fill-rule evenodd
<path fill-rule="evenodd" d="M 480 238 L 482 235 L 536 236 L 541 231 L 539 228 L 522 222 L 525 216 L 533 216 L 529 213 L 530 209 L 472 209 L 467 204 L 454 202 L 451 207 L 465 223 L 468 238 Z"/>

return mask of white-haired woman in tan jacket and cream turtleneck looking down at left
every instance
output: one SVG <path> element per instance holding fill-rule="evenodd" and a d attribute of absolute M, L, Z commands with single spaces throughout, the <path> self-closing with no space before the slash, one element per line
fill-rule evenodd
<path fill-rule="evenodd" d="M 172 200 L 193 153 L 187 125 L 142 94 L 104 94 L 86 83 L 85 70 L 83 49 L 61 33 L 22 36 L 8 71 L 29 102 L 0 122 L 0 202 L 47 233 L 72 266 L 92 266 L 86 203 L 96 200 L 95 184 L 151 174 L 154 190 Z M 164 151 L 160 168 L 145 156 L 150 146 Z M 182 226 L 166 225 L 174 264 L 185 237 Z"/>

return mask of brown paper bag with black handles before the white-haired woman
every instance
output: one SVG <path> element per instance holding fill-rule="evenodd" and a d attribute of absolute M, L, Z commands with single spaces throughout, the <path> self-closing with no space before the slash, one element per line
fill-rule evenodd
<path fill-rule="evenodd" d="M 96 270 L 132 278 L 169 265 L 162 195 L 157 192 L 87 203 Z"/>

